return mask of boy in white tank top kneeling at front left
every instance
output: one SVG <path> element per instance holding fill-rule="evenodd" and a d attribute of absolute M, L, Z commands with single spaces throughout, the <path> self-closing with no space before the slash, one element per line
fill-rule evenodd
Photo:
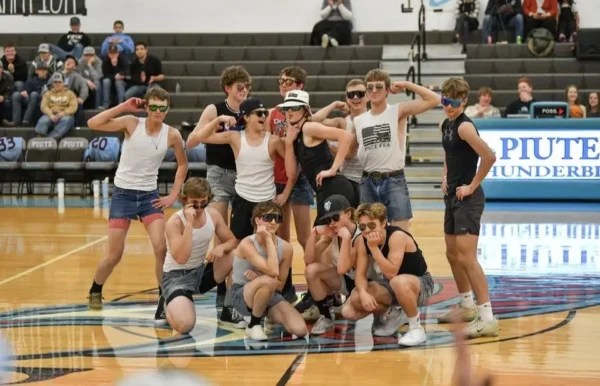
<path fill-rule="evenodd" d="M 179 200 L 183 210 L 176 212 L 166 225 L 167 257 L 163 267 L 161 289 L 169 325 L 182 334 L 196 324 L 196 308 L 192 296 L 204 294 L 225 282 L 231 274 L 235 236 L 219 212 L 207 208 L 213 194 L 203 178 L 190 178 L 183 185 Z M 210 253 L 214 236 L 221 243 Z M 232 281 L 229 280 L 229 285 Z M 221 313 L 222 323 L 245 328 L 246 321 L 231 305 Z"/>

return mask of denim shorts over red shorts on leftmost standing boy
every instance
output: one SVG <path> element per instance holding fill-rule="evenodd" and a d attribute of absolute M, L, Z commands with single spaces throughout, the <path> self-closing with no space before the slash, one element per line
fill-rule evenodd
<path fill-rule="evenodd" d="M 156 219 L 164 218 L 162 209 L 152 206 L 152 201 L 158 198 L 158 190 L 146 192 L 115 186 L 110 200 L 109 225 L 126 227 L 131 220 L 138 218 L 148 225 Z"/>

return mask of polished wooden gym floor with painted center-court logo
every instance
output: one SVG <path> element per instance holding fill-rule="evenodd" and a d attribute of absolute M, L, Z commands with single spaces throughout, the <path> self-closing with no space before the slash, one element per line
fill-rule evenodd
<path fill-rule="evenodd" d="M 0 364 L 0 384 L 110 385 L 165 367 L 216 385 L 452 383 L 450 327 L 435 319 L 457 296 L 439 202 L 414 204 L 413 233 L 437 285 L 421 311 L 427 345 L 413 349 L 399 349 L 396 338 L 374 339 L 372 318 L 338 321 L 335 333 L 308 342 L 282 339 L 275 328 L 267 347 L 249 344 L 243 330 L 217 325 L 214 292 L 197 298 L 190 336 L 154 328 L 154 262 L 139 223 L 105 286 L 105 309 L 88 311 L 107 247 L 107 209 L 70 198 L 60 209 L 43 198 L 2 198 L 0 206 L 0 334 L 13 350 L 12 361 Z M 488 204 L 479 258 L 501 334 L 469 342 L 477 371 L 492 372 L 498 385 L 600 384 L 599 224 L 593 205 Z M 302 272 L 296 244 L 299 293 Z"/>

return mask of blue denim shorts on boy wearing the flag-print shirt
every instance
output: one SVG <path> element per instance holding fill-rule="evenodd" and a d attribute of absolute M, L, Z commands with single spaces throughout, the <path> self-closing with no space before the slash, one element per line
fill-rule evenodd
<path fill-rule="evenodd" d="M 379 180 L 363 177 L 360 182 L 360 202 L 380 202 L 385 205 L 389 222 L 412 218 L 410 195 L 404 173 Z"/>

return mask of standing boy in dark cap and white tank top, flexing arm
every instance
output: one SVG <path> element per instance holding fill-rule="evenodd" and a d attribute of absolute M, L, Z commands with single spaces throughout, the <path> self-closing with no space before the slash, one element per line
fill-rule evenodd
<path fill-rule="evenodd" d="M 210 125 L 194 130 L 197 130 L 196 140 L 201 143 L 228 144 L 233 150 L 237 177 L 231 204 L 230 227 L 238 241 L 254 233 L 254 207 L 260 202 L 275 199 L 275 156 L 285 157 L 283 140 L 264 130 L 269 112 L 263 103 L 256 98 L 248 98 L 240 104 L 240 112 L 245 123 L 243 131 L 215 133 Z M 230 116 L 220 118 L 226 126 L 238 123 Z"/>

